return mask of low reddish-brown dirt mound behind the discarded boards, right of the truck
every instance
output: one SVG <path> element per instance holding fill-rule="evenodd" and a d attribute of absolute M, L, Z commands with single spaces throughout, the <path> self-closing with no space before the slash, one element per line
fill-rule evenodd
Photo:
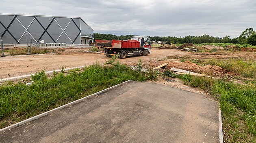
<path fill-rule="evenodd" d="M 158 62 L 158 63 L 150 63 L 150 67 L 156 67 L 158 65 L 161 65 L 163 63 L 166 63 L 164 61 Z M 198 74 L 206 74 L 209 76 L 215 76 L 215 77 L 225 77 L 227 74 L 232 75 L 230 72 L 228 72 L 226 69 L 222 69 L 219 66 L 212 66 L 212 65 L 206 65 L 206 66 L 200 66 L 195 63 L 191 63 L 190 61 L 185 62 L 168 62 L 168 65 L 166 65 L 167 69 L 171 69 L 172 67 L 176 67 L 178 69 L 184 69 L 187 71 L 192 71 Z"/>

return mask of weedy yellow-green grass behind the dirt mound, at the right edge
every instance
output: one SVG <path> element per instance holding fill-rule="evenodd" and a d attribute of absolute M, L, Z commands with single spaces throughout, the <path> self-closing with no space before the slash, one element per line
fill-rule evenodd
<path fill-rule="evenodd" d="M 256 79 L 256 62 L 252 59 L 206 59 L 204 65 L 217 65 L 223 69 L 228 69 L 236 74 L 241 74 L 245 78 Z"/>

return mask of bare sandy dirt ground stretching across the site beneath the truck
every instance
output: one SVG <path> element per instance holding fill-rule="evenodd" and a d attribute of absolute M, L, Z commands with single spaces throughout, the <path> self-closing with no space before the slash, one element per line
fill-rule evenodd
<path fill-rule="evenodd" d="M 35 73 L 46 69 L 46 71 L 60 69 L 61 65 L 65 67 L 78 67 L 89 65 L 98 61 L 104 64 L 108 58 L 100 53 L 88 53 L 88 48 L 65 48 L 57 53 L 47 53 L 43 55 L 18 55 L 0 57 L 0 79 L 13 76 L 21 76 Z M 172 49 L 152 48 L 148 56 L 133 56 L 126 59 L 119 59 L 121 63 L 136 65 L 139 59 L 143 60 L 145 66 L 157 66 L 158 61 L 179 62 L 183 58 L 195 59 L 228 59 L 231 57 L 244 57 L 246 59 L 256 59 L 255 52 L 226 52 L 222 53 L 196 53 L 185 52 Z M 148 64 L 154 62 L 154 64 Z"/>

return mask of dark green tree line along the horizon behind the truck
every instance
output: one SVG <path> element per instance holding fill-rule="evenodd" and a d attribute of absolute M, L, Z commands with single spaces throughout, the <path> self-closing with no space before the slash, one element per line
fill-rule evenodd
<path fill-rule="evenodd" d="M 98 40 L 126 40 L 131 39 L 132 36 L 138 35 L 121 35 L 116 36 L 113 34 L 94 34 L 94 39 Z M 150 36 L 148 36 L 150 37 Z M 193 43 L 193 44 L 201 44 L 201 43 L 233 43 L 233 44 L 252 44 L 256 45 L 256 32 L 253 28 L 245 29 L 239 37 L 230 38 L 230 36 L 225 37 L 213 37 L 209 35 L 203 36 L 185 36 L 185 37 L 175 37 L 175 36 L 154 36 L 150 37 L 150 40 L 157 41 L 166 41 L 167 44 L 183 44 L 183 43 Z"/>

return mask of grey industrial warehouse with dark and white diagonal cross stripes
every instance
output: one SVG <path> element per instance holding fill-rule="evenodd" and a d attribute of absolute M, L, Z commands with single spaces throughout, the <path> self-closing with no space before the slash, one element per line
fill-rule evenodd
<path fill-rule="evenodd" d="M 0 14 L 0 36 L 4 44 L 90 44 L 93 29 L 80 17 Z"/>

